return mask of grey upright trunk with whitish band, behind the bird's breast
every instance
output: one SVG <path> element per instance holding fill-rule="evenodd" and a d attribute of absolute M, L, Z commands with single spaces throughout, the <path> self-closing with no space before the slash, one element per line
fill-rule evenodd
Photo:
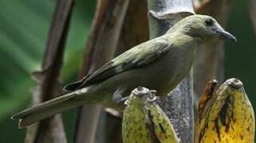
<path fill-rule="evenodd" d="M 194 14 L 191 0 L 148 0 L 150 38 L 166 33 L 183 17 Z M 192 72 L 162 102 L 181 143 L 193 142 Z"/>

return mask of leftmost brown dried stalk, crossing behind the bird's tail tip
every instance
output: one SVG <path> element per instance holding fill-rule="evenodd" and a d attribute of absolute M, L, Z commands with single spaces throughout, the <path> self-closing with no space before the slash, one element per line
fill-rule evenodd
<path fill-rule="evenodd" d="M 37 81 L 37 86 L 33 90 L 33 103 L 45 102 L 60 95 L 58 79 L 73 4 L 74 0 L 57 0 L 41 71 L 33 73 L 33 78 Z M 26 132 L 26 143 L 32 142 L 67 142 L 61 115 L 47 118 L 29 127 Z"/>

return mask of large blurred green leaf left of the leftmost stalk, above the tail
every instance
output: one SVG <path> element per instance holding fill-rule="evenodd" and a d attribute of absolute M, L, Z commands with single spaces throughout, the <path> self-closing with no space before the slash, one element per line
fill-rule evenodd
<path fill-rule="evenodd" d="M 29 99 L 29 76 L 40 65 L 53 11 L 51 3 L 0 2 L 0 119 Z M 41 6 L 45 10 L 37 9 Z"/>

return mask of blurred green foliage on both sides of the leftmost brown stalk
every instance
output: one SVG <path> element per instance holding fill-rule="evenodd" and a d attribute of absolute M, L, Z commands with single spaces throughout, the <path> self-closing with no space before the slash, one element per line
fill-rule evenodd
<path fill-rule="evenodd" d="M 30 73 L 41 68 L 55 2 L 0 1 L 0 142 L 24 140 L 25 129 L 18 129 L 17 122 L 10 121 L 10 115 L 30 106 L 34 85 Z M 61 73 L 64 83 L 75 79 L 80 69 L 95 5 L 93 0 L 77 0 L 74 7 Z M 68 114 L 75 117 L 75 110 Z M 70 141 L 73 124 L 64 116 Z"/>

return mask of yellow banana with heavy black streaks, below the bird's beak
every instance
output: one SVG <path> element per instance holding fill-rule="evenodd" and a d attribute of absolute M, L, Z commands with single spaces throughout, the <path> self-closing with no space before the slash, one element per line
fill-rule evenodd
<path fill-rule="evenodd" d="M 242 82 L 227 79 L 216 89 L 213 80 L 203 91 L 194 142 L 254 143 L 254 110 Z"/>

